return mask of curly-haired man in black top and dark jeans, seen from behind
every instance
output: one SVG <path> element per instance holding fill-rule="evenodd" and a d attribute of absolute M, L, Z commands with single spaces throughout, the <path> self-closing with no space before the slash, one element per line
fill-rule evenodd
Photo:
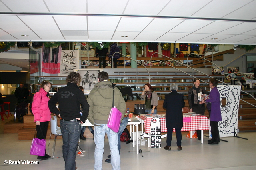
<path fill-rule="evenodd" d="M 81 124 L 85 122 L 89 112 L 89 104 L 84 93 L 78 88 L 81 76 L 77 72 L 70 72 L 66 78 L 67 86 L 61 88 L 50 98 L 50 111 L 61 118 L 62 153 L 65 170 L 76 169 L 76 148 L 81 134 Z M 56 103 L 59 103 L 59 109 Z M 80 114 L 82 106 L 82 115 Z"/>

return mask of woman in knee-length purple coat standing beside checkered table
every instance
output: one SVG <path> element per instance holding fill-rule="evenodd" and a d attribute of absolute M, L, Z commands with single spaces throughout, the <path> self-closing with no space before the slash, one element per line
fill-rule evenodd
<path fill-rule="evenodd" d="M 216 144 L 219 144 L 220 142 L 218 121 L 222 121 L 222 118 L 221 118 L 221 112 L 220 112 L 220 93 L 217 89 L 217 85 L 218 85 L 218 80 L 216 80 L 216 78 L 210 79 L 209 86 L 212 90 L 209 94 L 209 99 L 206 100 L 207 109 L 210 117 L 210 126 L 212 128 L 212 139 L 208 140 L 208 144 L 210 145 L 216 145 Z M 205 100 L 200 103 L 204 103 L 204 102 Z"/>

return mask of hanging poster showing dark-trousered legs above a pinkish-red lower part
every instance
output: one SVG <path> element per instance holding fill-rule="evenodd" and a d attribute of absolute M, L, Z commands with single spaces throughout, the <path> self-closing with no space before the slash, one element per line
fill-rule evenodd
<path fill-rule="evenodd" d="M 42 46 L 42 72 L 50 74 L 60 73 L 61 46 L 45 47 Z"/>

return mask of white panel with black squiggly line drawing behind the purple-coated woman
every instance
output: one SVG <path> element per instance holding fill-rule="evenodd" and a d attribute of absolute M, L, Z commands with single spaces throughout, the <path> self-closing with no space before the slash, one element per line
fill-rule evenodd
<path fill-rule="evenodd" d="M 218 85 L 222 121 L 218 122 L 220 137 L 234 136 L 238 132 L 238 109 L 241 86 Z M 222 100 L 225 104 L 222 105 Z M 211 128 L 209 136 L 211 137 Z"/>

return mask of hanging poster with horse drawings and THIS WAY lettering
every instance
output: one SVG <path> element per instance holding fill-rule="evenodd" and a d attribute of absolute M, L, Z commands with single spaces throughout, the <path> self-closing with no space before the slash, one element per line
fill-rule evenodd
<path fill-rule="evenodd" d="M 67 76 L 74 69 L 79 68 L 79 50 L 61 50 L 60 74 Z"/>

